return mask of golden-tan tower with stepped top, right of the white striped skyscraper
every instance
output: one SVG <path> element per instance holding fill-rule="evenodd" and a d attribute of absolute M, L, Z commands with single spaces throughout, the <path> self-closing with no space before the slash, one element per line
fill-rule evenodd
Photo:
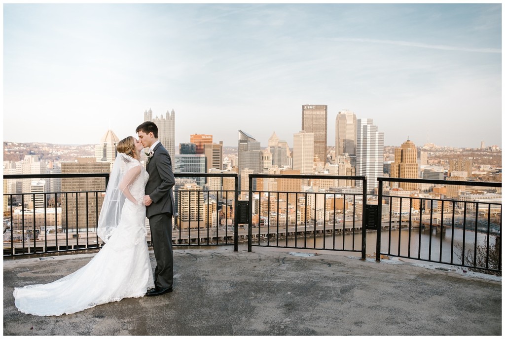
<path fill-rule="evenodd" d="M 417 179 L 419 165 L 417 163 L 417 149 L 414 142 L 407 140 L 400 148 L 394 150 L 394 162 L 391 163 L 391 178 Z M 417 189 L 412 182 L 399 182 L 398 187 L 404 190 Z"/>

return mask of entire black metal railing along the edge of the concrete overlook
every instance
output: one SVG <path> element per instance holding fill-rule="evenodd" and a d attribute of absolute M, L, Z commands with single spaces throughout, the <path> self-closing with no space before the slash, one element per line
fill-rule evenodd
<path fill-rule="evenodd" d="M 236 173 L 174 175 L 176 181 L 185 177 L 220 179 L 219 188 L 192 189 L 176 184 L 174 246 L 233 244 L 237 251 L 238 242 L 247 241 L 248 251 L 252 246 L 349 251 L 361 252 L 362 259 L 374 254 L 377 261 L 381 256 L 395 256 L 501 272 L 501 199 L 475 202 L 443 196 L 396 196 L 394 190 L 383 193 L 386 181 L 493 188 L 501 187 L 499 182 L 378 178 L 378 195 L 371 195 L 367 194 L 366 178 L 358 176 L 251 174 L 248 190 L 239 190 Z M 77 177 L 104 177 L 104 189 L 4 194 L 11 201 L 9 215 L 4 218 L 4 257 L 103 245 L 96 226 L 108 173 L 4 175 L 4 179 Z M 253 189 L 260 178 L 355 180 L 361 181 L 362 187 L 359 192 Z M 224 180 L 232 183 L 224 185 Z M 31 199 L 35 204 L 41 196 L 44 208 L 29 213 L 25 203 Z M 21 204 L 16 213 L 15 199 Z M 54 207 L 49 208 L 51 199 Z M 80 202 L 84 209 L 78 208 Z"/>

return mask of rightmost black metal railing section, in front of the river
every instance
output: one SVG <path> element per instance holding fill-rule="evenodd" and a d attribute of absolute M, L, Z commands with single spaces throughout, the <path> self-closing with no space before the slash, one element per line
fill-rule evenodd
<path fill-rule="evenodd" d="M 384 182 L 494 188 L 501 187 L 500 182 L 402 178 L 378 181 L 377 230 L 379 226 L 385 229 L 387 238 L 383 240 L 383 231 L 377 231 L 377 261 L 384 255 L 501 272 L 501 202 L 399 197 L 392 195 L 391 190 L 389 195 L 383 194 Z M 383 218 L 387 210 L 388 215 Z"/>

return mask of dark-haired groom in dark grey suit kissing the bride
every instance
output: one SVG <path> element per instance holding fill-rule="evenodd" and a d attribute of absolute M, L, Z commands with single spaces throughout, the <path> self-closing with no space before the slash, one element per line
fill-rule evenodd
<path fill-rule="evenodd" d="M 146 296 L 161 296 L 172 292 L 174 258 L 172 253 L 172 215 L 174 213 L 175 184 L 172 160 L 158 140 L 158 126 L 146 121 L 135 132 L 144 148 L 149 148 L 146 170 L 149 179 L 145 185 L 144 204 L 149 219 L 156 257 L 155 288 Z"/>

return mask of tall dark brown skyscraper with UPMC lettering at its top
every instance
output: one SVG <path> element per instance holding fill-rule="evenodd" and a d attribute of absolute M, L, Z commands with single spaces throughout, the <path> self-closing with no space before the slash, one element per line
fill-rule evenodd
<path fill-rule="evenodd" d="M 301 130 L 314 134 L 314 157 L 319 158 L 319 162 L 325 164 L 328 136 L 328 106 L 302 105 Z"/>

